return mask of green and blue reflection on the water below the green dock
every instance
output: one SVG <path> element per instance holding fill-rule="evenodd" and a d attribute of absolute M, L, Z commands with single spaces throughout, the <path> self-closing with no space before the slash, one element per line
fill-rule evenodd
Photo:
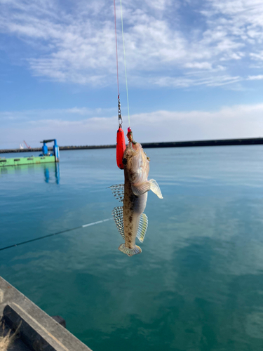
<path fill-rule="evenodd" d="M 60 164 L 29 164 L 22 166 L 8 166 L 0 168 L 0 176 L 15 175 L 22 176 L 25 173 L 30 175 L 43 172 L 46 183 L 60 184 Z"/>

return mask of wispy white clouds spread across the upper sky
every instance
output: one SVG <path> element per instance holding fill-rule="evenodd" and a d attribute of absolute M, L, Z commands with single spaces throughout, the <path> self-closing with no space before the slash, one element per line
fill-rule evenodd
<path fill-rule="evenodd" d="M 24 58 L 35 76 L 76 84 L 112 84 L 116 80 L 112 2 L 62 4 L 51 0 L 2 0 L 0 32 L 25 44 Z M 185 13 L 195 16 L 194 23 L 201 23 L 185 27 L 189 21 L 182 15 L 185 6 Z M 119 7 L 117 15 L 123 79 Z M 245 60 L 263 57 L 261 0 L 205 0 L 198 8 L 185 1 L 136 0 L 123 4 L 123 20 L 128 75 L 135 86 L 133 77 L 144 86 L 154 82 L 173 87 L 235 84 L 244 78 L 243 74 L 255 74 L 243 69 Z M 32 45 L 34 53 L 26 49 Z M 236 73 L 233 62 L 240 65 L 240 73 Z M 219 67 L 226 72 L 220 72 Z M 248 64 L 245 67 L 249 69 Z M 199 70 L 199 77 L 193 69 Z"/>

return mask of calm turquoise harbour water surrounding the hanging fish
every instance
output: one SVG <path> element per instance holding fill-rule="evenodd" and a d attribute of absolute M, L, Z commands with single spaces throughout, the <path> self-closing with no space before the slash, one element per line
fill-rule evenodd
<path fill-rule="evenodd" d="M 146 152 L 164 199 L 149 194 L 142 254 L 118 250 L 110 220 L 0 251 L 1 276 L 93 351 L 262 350 L 262 146 Z M 114 150 L 60 156 L 0 171 L 0 248 L 120 205 Z"/>

